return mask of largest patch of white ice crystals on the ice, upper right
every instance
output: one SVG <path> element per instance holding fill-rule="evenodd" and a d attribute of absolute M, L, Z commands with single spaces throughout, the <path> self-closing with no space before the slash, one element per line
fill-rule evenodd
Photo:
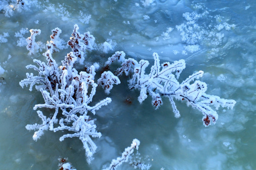
<path fill-rule="evenodd" d="M 211 16 L 210 11 L 205 9 L 202 3 L 194 4 L 193 8 L 198 11 L 183 13 L 186 23 L 176 26 L 182 41 L 187 44 L 184 47 L 185 51 L 191 53 L 199 51 L 200 45 L 207 45 L 216 49 L 223 42 L 222 30 L 229 31 L 234 29 L 235 25 L 223 22 L 223 17 L 219 15 Z M 199 24 L 200 20 L 205 18 L 216 18 L 216 21 L 211 19 L 210 24 Z M 185 51 L 183 54 L 186 55 Z"/>

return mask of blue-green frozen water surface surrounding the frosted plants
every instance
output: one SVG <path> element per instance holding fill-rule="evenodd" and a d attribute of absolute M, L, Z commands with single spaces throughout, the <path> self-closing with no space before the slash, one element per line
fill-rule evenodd
<path fill-rule="evenodd" d="M 59 157 L 68 157 L 77 170 L 100 170 L 120 157 L 134 138 L 140 140 L 141 159 L 152 170 L 256 169 L 255 0 L 33 0 L 20 13 L 12 9 L 13 1 L 0 2 L 1 170 L 55 170 Z M 180 81 L 203 70 L 200 80 L 207 83 L 208 94 L 237 103 L 233 110 L 219 108 L 216 124 L 204 127 L 201 113 L 182 101 L 176 101 L 178 119 L 166 99 L 158 110 L 150 97 L 139 104 L 139 91 L 130 91 L 122 76 L 109 95 L 99 88 L 93 99 L 110 97 L 112 102 L 92 116 L 102 136 L 93 138 L 98 148 L 91 164 L 78 138 L 59 141 L 63 132 L 46 131 L 36 142 L 34 132 L 25 127 L 41 123 L 33 107 L 44 101 L 40 92 L 22 89 L 19 82 L 31 72 L 25 67 L 33 59 L 45 61 L 46 50 L 28 55 L 25 39 L 30 29 L 40 29 L 36 42 L 44 47 L 58 27 L 67 42 L 74 24 L 80 33 L 90 31 L 99 44 L 84 63 L 99 62 L 102 67 L 115 51 L 150 64 L 153 52 L 161 63 L 185 59 Z M 104 50 L 104 42 L 112 50 Z M 53 58 L 59 63 L 70 51 L 55 52 Z M 79 64 L 76 68 L 84 69 Z M 52 111 L 44 109 L 45 114 Z M 133 168 L 123 163 L 118 169 Z"/>

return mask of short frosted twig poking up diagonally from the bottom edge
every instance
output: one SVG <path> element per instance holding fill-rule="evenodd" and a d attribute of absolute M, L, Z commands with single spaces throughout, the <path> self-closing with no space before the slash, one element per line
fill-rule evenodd
<path fill-rule="evenodd" d="M 120 166 L 123 162 L 128 162 L 131 159 L 130 155 L 134 152 L 134 149 L 138 150 L 139 144 L 139 140 L 133 139 L 131 146 L 125 148 L 125 151 L 122 153 L 122 156 L 118 157 L 117 159 L 113 159 L 110 163 L 110 166 L 103 170 L 116 170 L 116 168 Z"/>

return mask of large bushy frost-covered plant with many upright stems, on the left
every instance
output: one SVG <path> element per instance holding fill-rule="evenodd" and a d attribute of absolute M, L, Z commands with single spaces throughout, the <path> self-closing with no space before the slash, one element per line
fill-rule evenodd
<path fill-rule="evenodd" d="M 96 63 L 92 65 L 88 72 L 78 71 L 73 68 L 77 56 L 72 51 L 67 54 L 58 66 L 52 57 L 53 44 L 47 44 L 48 50 L 43 54 L 47 62 L 34 59 L 38 65 L 28 65 L 27 68 L 33 68 L 38 72 L 37 76 L 33 73 L 27 73 L 27 78 L 20 81 L 20 85 L 33 86 L 42 93 L 45 100 L 44 104 L 37 104 L 34 110 L 38 108 L 50 108 L 55 110 L 52 115 L 44 115 L 42 111 L 37 110 L 38 116 L 42 119 L 42 124 L 27 125 L 28 130 L 35 130 L 33 139 L 37 141 L 45 130 L 63 131 L 68 133 L 60 137 L 63 141 L 66 137 L 78 137 L 86 152 L 87 161 L 90 163 L 93 159 L 97 146 L 91 140 L 91 137 L 101 137 L 101 133 L 96 131 L 94 120 L 89 117 L 89 112 L 95 114 L 95 111 L 101 106 L 111 102 L 106 98 L 95 105 L 90 103 L 96 93 L 97 84 L 94 83 L 95 70 L 99 68 Z M 55 126 L 58 125 L 58 126 Z"/>

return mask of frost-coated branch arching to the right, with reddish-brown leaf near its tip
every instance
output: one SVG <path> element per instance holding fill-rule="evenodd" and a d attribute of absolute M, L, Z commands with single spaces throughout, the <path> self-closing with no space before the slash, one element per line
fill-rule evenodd
<path fill-rule="evenodd" d="M 176 108 L 174 99 L 185 101 L 187 105 L 202 112 L 204 115 L 202 120 L 205 126 L 209 126 L 211 123 L 215 124 L 218 119 L 218 114 L 210 107 L 211 105 L 216 110 L 218 110 L 219 106 L 232 109 L 236 103 L 234 100 L 221 99 L 219 96 L 206 94 L 207 85 L 199 80 L 194 81 L 194 79 L 198 79 L 203 75 L 203 71 L 198 71 L 182 83 L 179 83 L 179 75 L 185 68 L 183 59 L 174 61 L 172 64 L 164 62 L 160 65 L 158 54 L 153 53 L 155 63 L 147 74 L 145 71 L 149 65 L 147 60 L 142 59 L 137 62 L 134 59 L 124 59 L 124 56 L 125 53 L 123 51 L 116 52 L 108 59 L 105 67 L 109 68 L 109 65 L 114 60 L 121 62 L 121 68 L 118 68 L 116 72 L 119 76 L 123 72 L 126 75 L 132 74 L 130 80 L 128 80 L 128 85 L 130 89 L 138 89 L 140 91 L 138 97 L 140 103 L 149 94 L 152 97 L 152 105 L 157 109 L 163 104 L 162 97 L 167 97 L 172 105 L 175 117 L 178 118 L 180 117 L 180 112 Z"/>

